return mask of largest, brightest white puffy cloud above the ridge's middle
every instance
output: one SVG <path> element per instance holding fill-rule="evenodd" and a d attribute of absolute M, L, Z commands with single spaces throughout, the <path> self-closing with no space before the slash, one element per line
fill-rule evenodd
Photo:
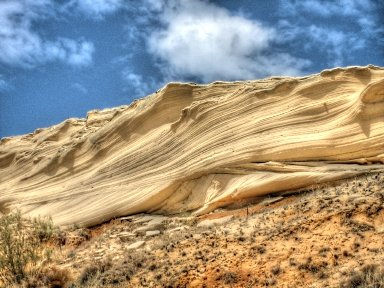
<path fill-rule="evenodd" d="M 156 4 L 153 10 L 160 13 L 164 27 L 149 35 L 148 49 L 169 79 L 190 76 L 209 82 L 298 75 L 309 64 L 273 52 L 279 31 L 256 20 L 202 0 Z"/>

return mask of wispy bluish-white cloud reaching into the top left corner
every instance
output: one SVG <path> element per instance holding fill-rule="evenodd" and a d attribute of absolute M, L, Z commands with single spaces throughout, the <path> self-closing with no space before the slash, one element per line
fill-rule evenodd
<path fill-rule="evenodd" d="M 93 44 L 85 40 L 44 39 L 33 24 L 50 17 L 54 10 L 48 0 L 0 2 L 0 62 L 31 67 L 49 61 L 73 66 L 92 62 Z"/>

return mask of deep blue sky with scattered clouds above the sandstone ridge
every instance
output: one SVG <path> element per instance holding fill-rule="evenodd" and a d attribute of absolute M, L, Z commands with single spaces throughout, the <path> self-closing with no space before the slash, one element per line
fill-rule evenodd
<path fill-rule="evenodd" d="M 0 0 L 0 137 L 169 81 L 384 66 L 382 0 Z"/>

